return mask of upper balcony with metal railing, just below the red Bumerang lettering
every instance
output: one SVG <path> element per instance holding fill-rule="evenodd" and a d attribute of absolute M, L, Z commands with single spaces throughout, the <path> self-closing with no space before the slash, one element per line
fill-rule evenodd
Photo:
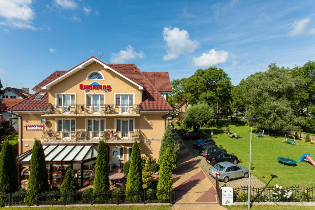
<path fill-rule="evenodd" d="M 42 116 L 140 116 L 140 105 L 48 105 Z"/>

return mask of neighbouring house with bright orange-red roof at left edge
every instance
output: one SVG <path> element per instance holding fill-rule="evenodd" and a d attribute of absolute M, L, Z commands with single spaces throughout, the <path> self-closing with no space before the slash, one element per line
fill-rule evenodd
<path fill-rule="evenodd" d="M 16 132 L 19 131 L 18 117 L 11 113 L 7 113 L 7 109 L 22 100 L 24 99 L 3 99 L 0 104 L 0 123 L 3 120 L 11 121 L 11 125 L 13 125 Z"/>

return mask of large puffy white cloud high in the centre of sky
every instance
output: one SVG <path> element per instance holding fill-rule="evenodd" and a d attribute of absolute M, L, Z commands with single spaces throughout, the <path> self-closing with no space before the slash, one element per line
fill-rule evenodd
<path fill-rule="evenodd" d="M 190 40 L 186 30 L 179 28 L 164 27 L 163 38 L 166 42 L 166 52 L 163 60 L 176 59 L 180 54 L 189 54 L 199 47 L 196 40 Z"/>

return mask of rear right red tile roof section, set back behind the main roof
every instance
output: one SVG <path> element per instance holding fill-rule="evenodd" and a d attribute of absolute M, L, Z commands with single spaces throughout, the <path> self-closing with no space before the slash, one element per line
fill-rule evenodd
<path fill-rule="evenodd" d="M 167 71 L 142 71 L 148 80 L 160 92 L 172 91 L 171 82 L 169 80 L 169 72 Z"/>

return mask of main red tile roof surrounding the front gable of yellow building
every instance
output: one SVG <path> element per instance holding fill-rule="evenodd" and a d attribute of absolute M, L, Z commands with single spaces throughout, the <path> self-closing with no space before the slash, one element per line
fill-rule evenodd
<path fill-rule="evenodd" d="M 92 56 L 91 58 L 94 58 L 101 63 L 111 67 L 118 73 L 122 74 L 123 76 L 127 77 L 128 79 L 132 80 L 133 82 L 137 83 L 138 85 L 145 88 L 145 90 L 142 93 L 142 102 L 140 104 L 141 110 L 173 110 L 173 108 L 169 105 L 169 103 L 163 98 L 163 96 L 159 93 L 159 90 L 152 84 L 152 82 L 155 82 L 155 79 L 152 80 L 152 82 L 146 77 L 146 75 L 140 71 L 140 69 L 135 64 L 106 64 L 103 61 L 95 58 Z M 91 59 L 89 58 L 89 59 Z M 87 59 L 87 60 L 89 60 Z M 87 60 L 84 60 L 78 65 L 83 64 Z M 72 67 L 77 67 L 78 65 Z M 48 84 L 49 82 L 52 82 L 54 79 L 60 77 L 61 75 L 65 74 L 68 71 L 55 71 L 53 74 L 51 74 L 49 77 L 44 79 L 42 82 L 40 82 L 38 85 L 36 85 L 33 90 L 39 90 L 44 85 Z M 167 72 L 166 72 L 167 73 Z M 169 76 L 167 74 L 167 77 L 165 73 L 163 74 L 164 77 L 160 80 L 160 83 L 169 83 Z M 155 82 L 157 83 L 157 82 Z M 42 90 L 39 92 L 48 92 L 48 90 Z M 39 93 L 38 92 L 38 93 Z M 38 94 L 37 93 L 37 94 Z M 34 99 L 37 94 L 32 95 L 32 97 L 29 97 L 27 101 L 24 101 L 23 103 L 14 105 L 13 107 L 10 107 L 10 110 L 43 110 L 47 108 L 48 105 L 48 94 L 46 94 L 41 102 L 37 99 Z"/>

